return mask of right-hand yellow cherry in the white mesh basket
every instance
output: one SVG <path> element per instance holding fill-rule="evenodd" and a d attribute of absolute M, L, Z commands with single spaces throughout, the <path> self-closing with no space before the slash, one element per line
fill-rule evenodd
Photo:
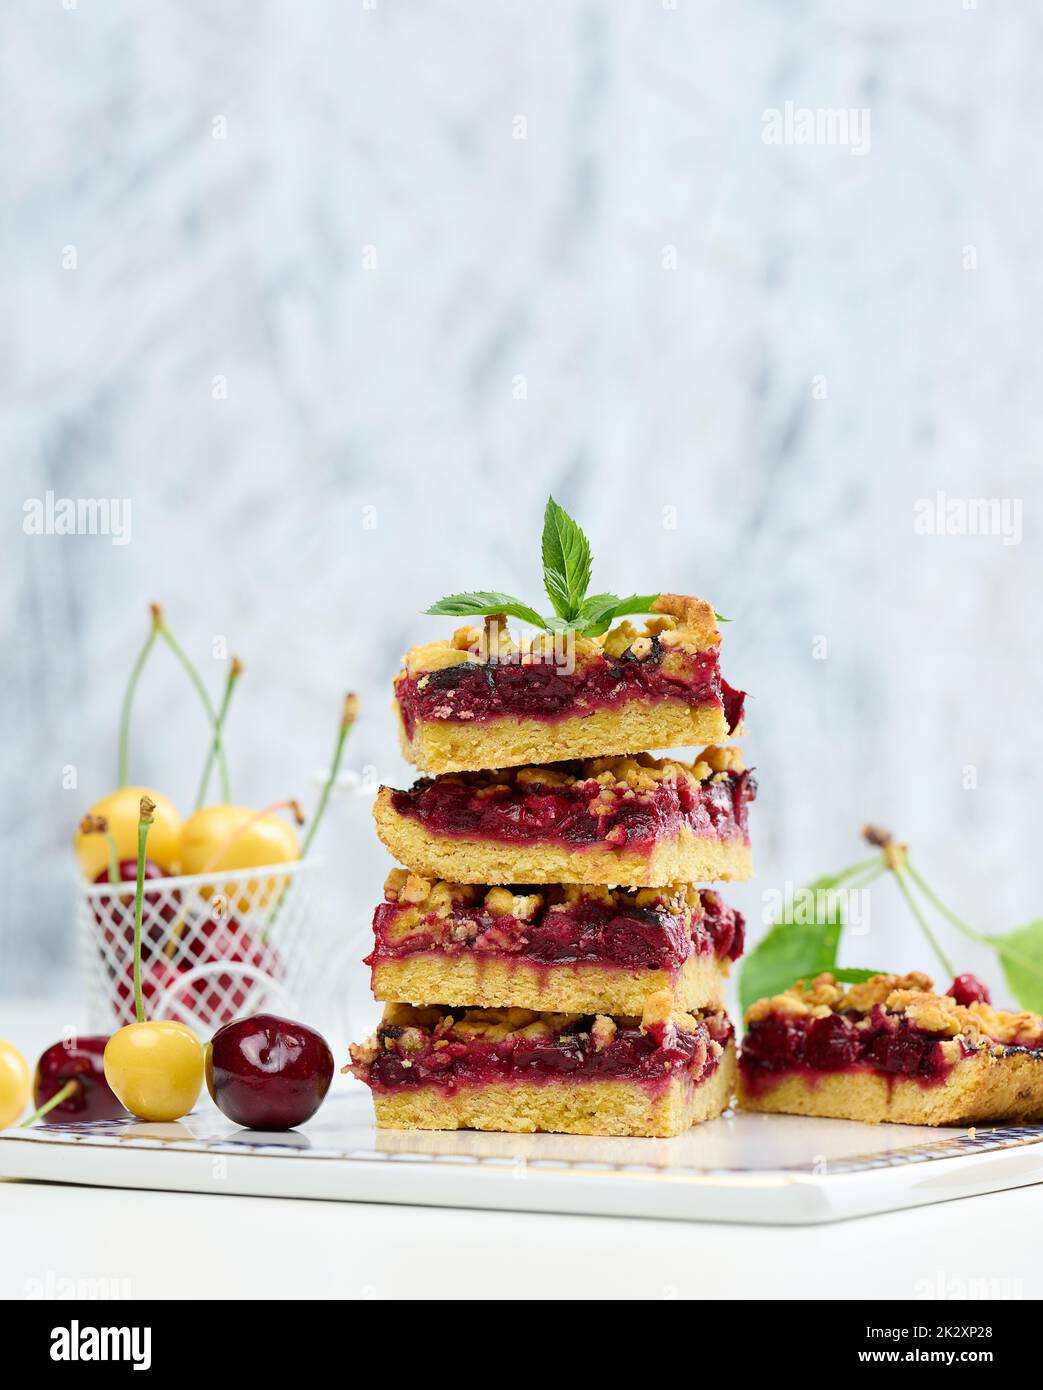
<path fill-rule="evenodd" d="M 286 802 L 298 820 L 296 802 Z M 181 872 L 214 873 L 221 869 L 260 869 L 293 863 L 300 858 L 296 831 L 274 810 L 249 806 L 203 806 L 181 827 Z M 225 895 L 235 899 L 238 912 L 267 908 L 278 898 L 285 878 L 266 878 L 250 884 L 250 892 L 235 898 L 235 884 Z"/>

